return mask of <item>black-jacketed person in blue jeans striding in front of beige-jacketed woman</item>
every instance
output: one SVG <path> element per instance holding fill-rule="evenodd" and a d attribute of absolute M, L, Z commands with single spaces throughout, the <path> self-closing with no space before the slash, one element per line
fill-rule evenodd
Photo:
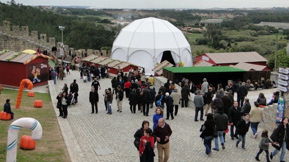
<path fill-rule="evenodd" d="M 238 144 L 242 141 L 242 149 L 246 151 L 245 142 L 246 142 L 246 133 L 248 132 L 250 127 L 250 114 L 245 113 L 244 117 L 240 121 L 238 121 L 236 127 L 237 133 L 239 135 L 239 139 L 236 142 L 236 147 L 238 147 Z"/>

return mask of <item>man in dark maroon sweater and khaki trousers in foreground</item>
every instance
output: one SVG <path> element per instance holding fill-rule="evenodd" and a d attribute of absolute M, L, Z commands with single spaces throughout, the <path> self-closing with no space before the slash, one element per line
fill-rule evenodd
<path fill-rule="evenodd" d="M 169 137 L 172 134 L 170 126 L 165 122 L 164 118 L 159 119 L 158 126 L 155 127 L 154 136 L 157 139 L 157 148 L 159 154 L 159 162 L 168 162 L 169 160 Z M 163 159 L 163 152 L 165 151 L 165 158 Z"/>

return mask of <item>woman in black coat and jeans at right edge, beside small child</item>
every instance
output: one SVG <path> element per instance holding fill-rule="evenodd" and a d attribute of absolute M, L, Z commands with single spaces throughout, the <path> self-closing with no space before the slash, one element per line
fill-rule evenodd
<path fill-rule="evenodd" d="M 270 159 L 273 159 L 273 156 L 275 156 L 282 148 L 280 162 L 285 162 L 284 157 L 286 154 L 286 149 L 289 150 L 288 118 L 284 117 L 282 121 L 283 122 L 278 125 L 278 127 L 273 131 L 272 135 L 270 136 L 271 140 L 274 142 L 273 147 L 276 148 L 273 152 L 271 152 Z"/>

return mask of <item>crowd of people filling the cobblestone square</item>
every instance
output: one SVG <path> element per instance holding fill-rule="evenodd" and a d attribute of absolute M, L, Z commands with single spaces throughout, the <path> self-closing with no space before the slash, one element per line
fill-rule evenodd
<path fill-rule="evenodd" d="M 80 77 L 87 76 L 92 78 L 91 92 L 89 93 L 89 101 L 92 105 L 91 113 L 98 113 L 97 103 L 99 102 L 98 90 L 101 90 L 99 80 L 106 78 L 109 73 L 107 66 L 97 67 L 94 64 L 88 65 L 82 63 L 80 70 Z M 102 70 L 101 70 L 102 69 Z M 61 78 L 61 77 L 59 77 Z M 88 79 L 88 81 L 91 81 Z M 86 81 L 84 81 L 86 82 Z M 111 115 L 112 102 L 116 100 L 117 112 L 121 113 L 123 98 L 127 98 L 130 111 L 135 114 L 136 111 L 140 111 L 144 116 L 149 116 L 149 110 L 155 108 L 155 114 L 152 117 L 153 127 L 149 128 L 149 121 L 144 121 L 142 127 L 135 133 L 135 146 L 139 150 L 139 156 L 141 162 L 153 162 L 155 142 L 157 142 L 158 158 L 159 162 L 167 162 L 169 159 L 169 136 L 172 131 L 165 120 L 173 120 L 174 116 L 177 116 L 178 105 L 181 107 L 188 107 L 189 98 L 191 93 L 195 94 L 193 103 L 195 106 L 194 121 L 204 121 L 200 131 L 202 131 L 202 138 L 204 139 L 204 146 L 206 148 L 205 153 L 210 156 L 212 150 L 219 150 L 218 139 L 220 140 L 221 148 L 225 149 L 225 135 L 229 132 L 230 125 L 230 137 L 231 140 L 237 139 L 236 147 L 239 147 L 241 143 L 241 149 L 245 148 L 246 134 L 251 127 L 254 138 L 258 137 L 258 124 L 264 120 L 262 106 L 278 102 L 279 91 L 274 92 L 271 99 L 266 101 L 263 93 L 259 94 L 257 101 L 254 101 L 254 106 L 251 107 L 249 99 L 246 98 L 248 94 L 248 87 L 245 82 L 236 85 L 233 81 L 228 81 L 228 85 L 224 88 L 221 84 L 217 84 L 215 88 L 212 84 L 209 84 L 206 78 L 203 79 L 201 85 L 195 86 L 192 81 L 183 78 L 182 81 L 177 83 L 181 86 L 181 91 L 175 87 L 175 82 L 167 80 L 166 83 L 161 85 L 159 90 L 154 87 L 154 77 L 151 75 L 149 78 L 145 77 L 145 70 L 130 69 L 128 73 L 118 68 L 118 75 L 111 80 L 111 88 L 104 90 L 104 105 L 107 114 Z M 265 84 L 264 84 L 265 86 Z M 67 101 L 70 101 L 69 97 L 66 99 L 66 95 L 72 95 L 77 103 L 78 84 L 74 80 L 70 85 L 70 92 L 68 93 L 67 85 L 64 85 L 63 92 L 57 96 L 59 104 L 61 104 L 61 110 L 59 109 L 59 116 L 67 118 Z M 234 94 L 237 94 L 237 101 L 234 100 Z M 214 99 L 214 97 L 216 97 Z M 67 104 L 66 104 L 67 103 Z M 164 117 L 164 109 L 166 106 L 166 118 Z M 138 108 L 136 108 L 138 107 Z M 204 114 L 205 108 L 205 114 Z M 209 112 L 209 110 L 211 111 Z M 200 112 L 200 119 L 198 120 L 198 113 Z M 204 119 L 206 116 L 206 121 Z M 288 120 L 285 118 L 281 131 L 288 128 Z M 282 124 L 281 124 L 282 125 Z M 234 131 L 235 128 L 235 131 Z M 275 130 L 277 131 L 277 130 Z M 275 132 L 274 131 L 274 132 Z M 273 134 L 274 134 L 273 132 Z M 276 132 L 275 132 L 276 133 Z M 282 148 L 282 156 L 280 161 L 284 161 L 284 151 L 286 149 L 287 140 L 280 142 L 280 137 L 272 139 L 270 142 L 266 130 L 262 133 L 262 141 L 260 143 L 260 151 L 256 155 L 255 159 L 259 160 L 260 153 L 265 150 L 268 151 L 267 144 L 273 143 L 272 146 L 279 145 L 279 150 Z M 287 134 L 283 136 L 287 139 Z M 215 147 L 212 148 L 212 140 L 215 141 Z M 287 143 L 286 143 L 287 142 Z M 285 143 L 285 144 L 284 144 Z M 269 144 L 268 144 L 269 145 Z M 270 154 L 270 158 L 278 153 L 274 151 Z M 163 158 L 164 154 L 164 158 Z M 271 158 L 272 159 L 272 158 Z M 269 161 L 269 159 L 267 159 Z"/>

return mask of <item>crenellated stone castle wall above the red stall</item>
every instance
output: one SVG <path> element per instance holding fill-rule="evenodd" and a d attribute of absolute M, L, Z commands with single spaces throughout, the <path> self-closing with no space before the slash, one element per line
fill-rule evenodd
<path fill-rule="evenodd" d="M 39 39 L 38 39 L 39 38 Z M 31 31 L 29 35 L 28 26 L 12 26 L 10 21 L 3 21 L 0 25 L 0 50 L 23 51 L 25 49 L 36 50 L 37 47 L 51 50 L 55 46 L 55 38 L 48 38 L 46 34 Z"/>

